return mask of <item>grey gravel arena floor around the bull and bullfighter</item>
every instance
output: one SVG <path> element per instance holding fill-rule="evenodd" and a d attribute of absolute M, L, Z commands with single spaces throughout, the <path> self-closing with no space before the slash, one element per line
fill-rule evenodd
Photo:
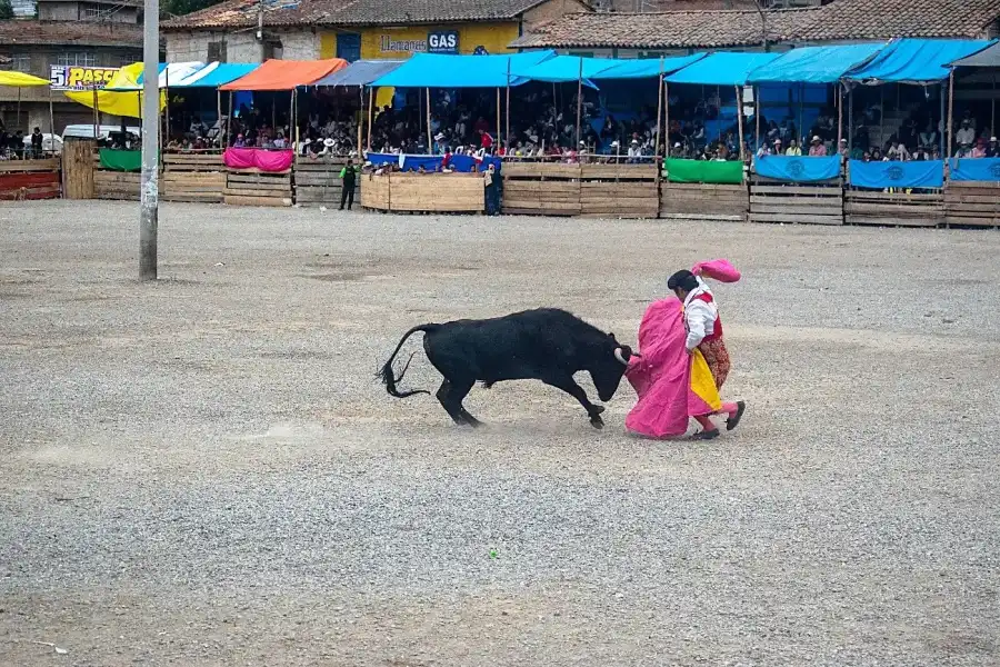
<path fill-rule="evenodd" d="M 0 664 L 1000 664 L 1000 233 L 164 205 L 139 283 L 137 228 L 0 208 Z M 716 441 L 374 378 L 538 306 L 633 342 L 720 256 Z"/>

